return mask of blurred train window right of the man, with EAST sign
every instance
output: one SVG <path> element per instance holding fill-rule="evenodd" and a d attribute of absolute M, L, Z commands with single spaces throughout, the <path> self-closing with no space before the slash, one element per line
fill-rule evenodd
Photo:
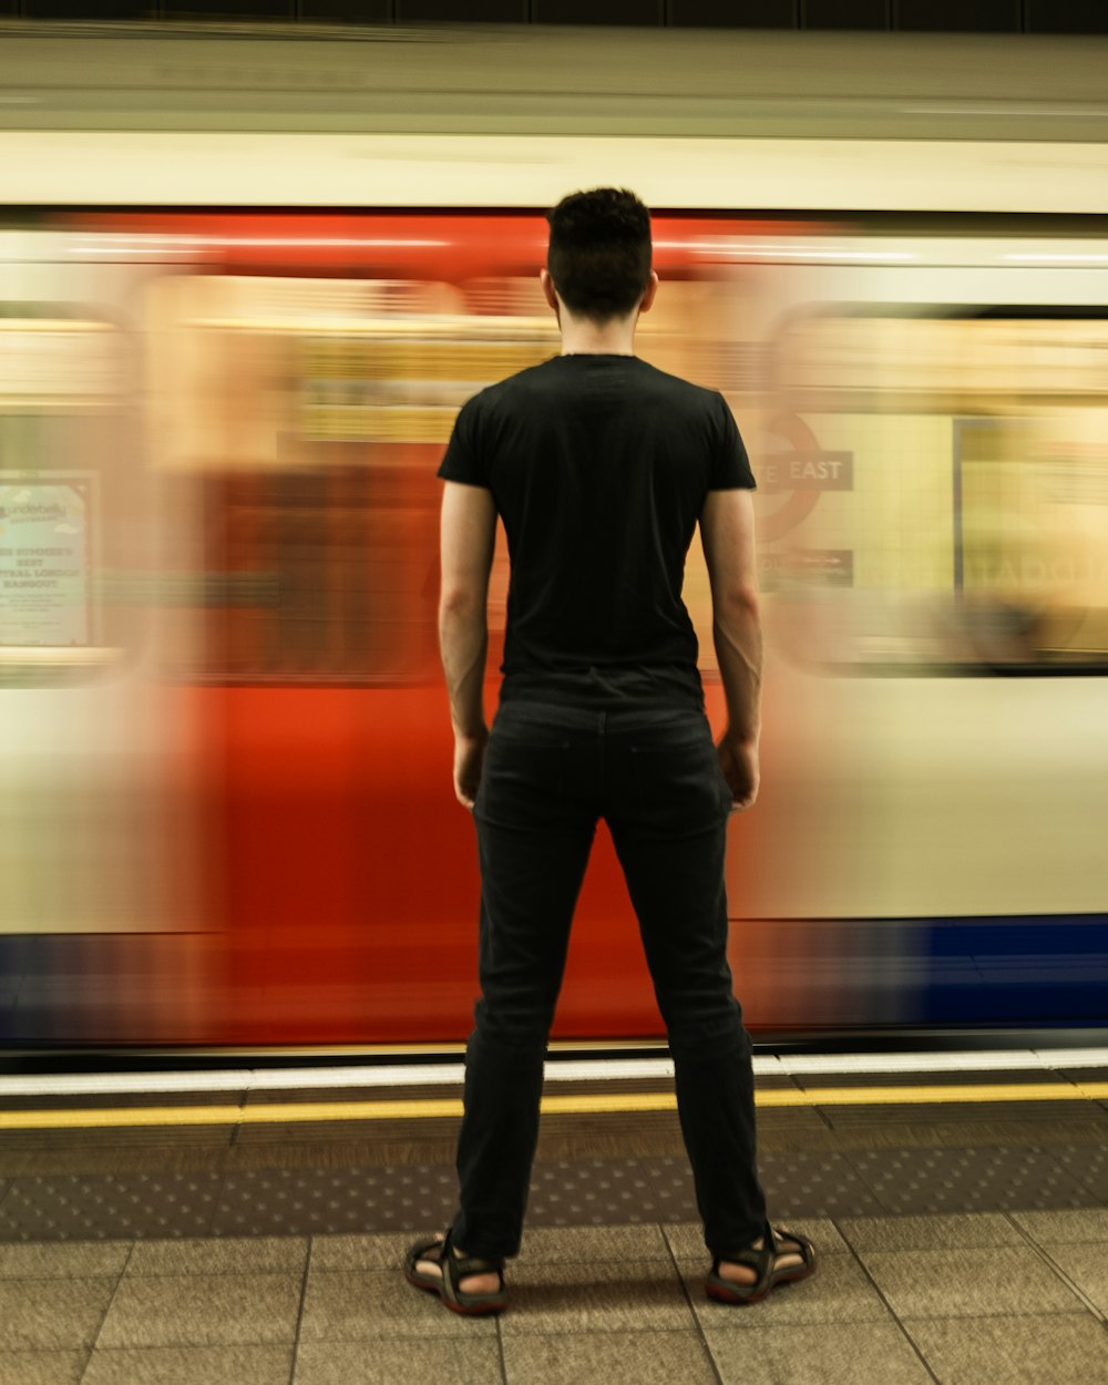
<path fill-rule="evenodd" d="M 778 342 L 765 586 L 853 672 L 1108 668 L 1108 321 L 821 313 Z"/>

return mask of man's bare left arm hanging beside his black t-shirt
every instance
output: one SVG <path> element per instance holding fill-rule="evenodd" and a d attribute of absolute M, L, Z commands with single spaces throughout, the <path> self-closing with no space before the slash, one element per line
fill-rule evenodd
<path fill-rule="evenodd" d="M 454 726 L 454 792 L 474 806 L 489 730 L 485 656 L 496 506 L 482 486 L 447 481 L 442 497 L 439 650 Z"/>

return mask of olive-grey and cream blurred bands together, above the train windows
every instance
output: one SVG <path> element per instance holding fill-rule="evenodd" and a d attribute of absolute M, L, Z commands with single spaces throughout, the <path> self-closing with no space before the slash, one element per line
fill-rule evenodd
<path fill-rule="evenodd" d="M 0 35 L 7 205 L 1108 211 L 1097 37 Z"/>

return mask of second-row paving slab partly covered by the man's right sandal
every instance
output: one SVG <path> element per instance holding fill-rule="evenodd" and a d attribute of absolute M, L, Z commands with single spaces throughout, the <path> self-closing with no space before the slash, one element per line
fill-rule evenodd
<path fill-rule="evenodd" d="M 881 1295 L 852 1255 L 828 1255 L 799 1284 L 774 1289 L 751 1307 L 717 1303 L 704 1292 L 704 1260 L 681 1260 L 692 1310 L 705 1332 L 748 1331 L 755 1327 L 796 1327 L 823 1323 L 889 1321 Z"/>

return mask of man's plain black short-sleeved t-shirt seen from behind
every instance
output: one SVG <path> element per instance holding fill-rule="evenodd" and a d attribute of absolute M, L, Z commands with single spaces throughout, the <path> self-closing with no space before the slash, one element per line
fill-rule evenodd
<path fill-rule="evenodd" d="M 555 356 L 464 406 L 439 476 L 504 521 L 501 699 L 704 705 L 684 560 L 708 492 L 755 485 L 722 395 L 637 356 Z"/>

